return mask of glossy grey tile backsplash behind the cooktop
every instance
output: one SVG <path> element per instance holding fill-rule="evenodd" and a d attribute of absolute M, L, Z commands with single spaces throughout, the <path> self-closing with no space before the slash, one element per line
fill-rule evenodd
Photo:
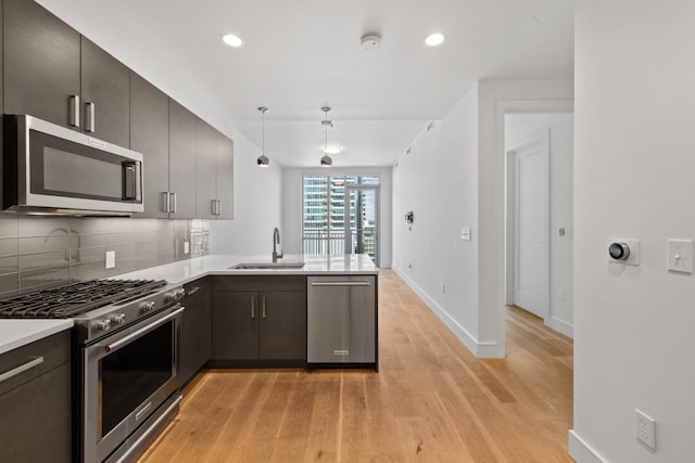
<path fill-rule="evenodd" d="M 208 254 L 207 220 L 0 214 L 0 298 Z M 185 254 L 185 243 L 190 243 Z M 116 267 L 106 270 L 106 250 Z"/>

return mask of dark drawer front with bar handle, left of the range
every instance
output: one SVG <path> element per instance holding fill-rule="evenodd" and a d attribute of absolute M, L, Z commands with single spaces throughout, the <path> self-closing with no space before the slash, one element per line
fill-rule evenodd
<path fill-rule="evenodd" d="M 70 362 L 70 330 L 0 356 L 0 395 Z"/>

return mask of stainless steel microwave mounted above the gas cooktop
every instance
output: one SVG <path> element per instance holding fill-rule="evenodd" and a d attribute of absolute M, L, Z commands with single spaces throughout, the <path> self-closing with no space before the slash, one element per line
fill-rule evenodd
<path fill-rule="evenodd" d="M 142 213 L 142 154 L 26 115 L 5 115 L 3 209 Z"/>

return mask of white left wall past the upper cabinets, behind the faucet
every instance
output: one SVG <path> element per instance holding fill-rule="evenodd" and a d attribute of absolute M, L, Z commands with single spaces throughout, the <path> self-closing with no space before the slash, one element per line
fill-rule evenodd
<path fill-rule="evenodd" d="M 270 159 L 261 168 L 258 150 L 236 132 L 235 141 L 235 218 L 210 220 L 210 250 L 213 254 L 256 255 L 273 252 L 273 229 L 282 230 L 282 167 Z"/>

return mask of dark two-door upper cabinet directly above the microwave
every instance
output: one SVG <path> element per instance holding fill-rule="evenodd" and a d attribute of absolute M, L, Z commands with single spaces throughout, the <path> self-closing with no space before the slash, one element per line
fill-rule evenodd
<path fill-rule="evenodd" d="M 129 145 L 128 68 L 38 3 L 3 2 L 4 113 Z"/>

